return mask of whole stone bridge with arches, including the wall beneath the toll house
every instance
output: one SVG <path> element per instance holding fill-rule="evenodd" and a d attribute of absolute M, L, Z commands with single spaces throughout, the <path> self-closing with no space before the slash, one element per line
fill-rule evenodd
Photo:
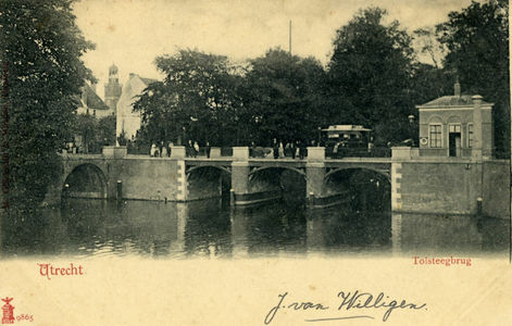
<path fill-rule="evenodd" d="M 392 211 L 510 214 L 510 161 L 423 158 L 411 148 L 394 148 L 391 158 L 332 160 L 321 147 L 308 153 L 305 160 L 255 159 L 247 147 L 236 147 L 233 156 L 212 150 L 207 159 L 187 158 L 184 147 L 174 147 L 171 158 L 149 158 L 105 147 L 99 155 L 63 154 L 47 202 L 61 197 L 178 202 L 229 197 L 233 205 L 247 205 L 282 198 L 291 179 L 310 206 L 328 206 L 353 199 L 347 192 L 365 177 L 371 183 L 361 185 L 372 188 L 370 193 L 388 189 Z"/>

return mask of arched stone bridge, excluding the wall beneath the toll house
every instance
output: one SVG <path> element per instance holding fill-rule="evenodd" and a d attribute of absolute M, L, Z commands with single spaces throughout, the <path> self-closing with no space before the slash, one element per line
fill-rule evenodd
<path fill-rule="evenodd" d="M 233 156 L 187 158 L 174 147 L 171 158 L 127 155 L 123 148 L 103 154 L 63 154 L 61 177 L 48 199 L 64 197 L 192 201 L 229 196 L 233 205 L 279 199 L 283 180 L 291 176 L 305 185 L 303 198 L 312 206 L 347 201 L 344 178 L 355 171 L 375 174 L 382 185 L 391 181 L 391 159 L 350 158 L 326 160 L 325 150 L 309 148 L 305 160 L 249 158 L 247 147 Z"/>

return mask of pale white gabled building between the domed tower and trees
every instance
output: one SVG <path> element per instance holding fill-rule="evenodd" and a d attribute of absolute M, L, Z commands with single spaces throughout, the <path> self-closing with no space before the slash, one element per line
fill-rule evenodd
<path fill-rule="evenodd" d="M 137 135 L 137 130 L 141 126 L 141 117 L 139 112 L 134 112 L 135 97 L 142 93 L 142 90 L 154 82 L 157 79 L 129 74 L 129 80 L 123 86 L 123 93 L 117 102 L 116 137 L 123 131 L 127 139 Z"/>

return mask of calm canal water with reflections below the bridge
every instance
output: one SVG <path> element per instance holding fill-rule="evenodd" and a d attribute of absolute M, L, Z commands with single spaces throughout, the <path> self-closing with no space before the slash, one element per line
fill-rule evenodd
<path fill-rule="evenodd" d="M 0 256 L 509 259 L 510 222 L 461 215 L 66 199 L 2 223 Z M 12 222 L 15 221 L 15 222 Z"/>

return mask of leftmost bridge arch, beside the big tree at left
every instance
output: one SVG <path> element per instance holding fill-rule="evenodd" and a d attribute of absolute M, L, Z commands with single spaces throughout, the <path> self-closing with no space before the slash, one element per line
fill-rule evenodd
<path fill-rule="evenodd" d="M 82 163 L 66 176 L 62 187 L 63 197 L 105 199 L 108 180 L 103 171 L 96 164 Z"/>

